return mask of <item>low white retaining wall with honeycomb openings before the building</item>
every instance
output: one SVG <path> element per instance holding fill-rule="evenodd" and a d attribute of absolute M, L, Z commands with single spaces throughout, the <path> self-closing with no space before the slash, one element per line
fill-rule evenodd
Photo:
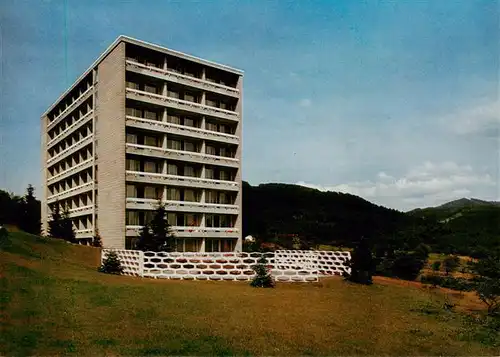
<path fill-rule="evenodd" d="M 349 271 L 345 262 L 349 252 L 278 250 L 272 253 L 178 253 L 103 249 L 102 259 L 113 250 L 124 268 L 124 275 L 178 280 L 253 279 L 252 267 L 265 255 L 276 281 L 314 282 L 320 276 L 341 275 Z"/>

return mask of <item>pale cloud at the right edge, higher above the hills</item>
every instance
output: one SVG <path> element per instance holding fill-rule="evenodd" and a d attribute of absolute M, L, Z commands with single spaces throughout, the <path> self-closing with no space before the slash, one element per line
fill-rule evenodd
<path fill-rule="evenodd" d="M 443 122 L 458 135 L 498 138 L 500 135 L 500 102 L 494 101 L 463 110 L 443 118 Z"/>

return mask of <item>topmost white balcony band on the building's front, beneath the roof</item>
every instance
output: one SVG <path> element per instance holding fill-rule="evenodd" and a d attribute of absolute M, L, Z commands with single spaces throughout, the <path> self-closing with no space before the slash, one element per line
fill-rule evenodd
<path fill-rule="evenodd" d="M 126 63 L 127 63 L 127 71 L 148 75 L 169 82 L 179 83 L 185 86 L 198 88 L 205 91 L 210 91 L 213 93 L 228 95 L 235 98 L 238 98 L 240 96 L 240 91 L 233 87 L 212 83 L 200 78 L 186 76 L 184 74 L 176 73 L 169 70 L 164 70 L 153 66 L 146 66 L 142 63 L 138 63 L 128 59 Z"/>

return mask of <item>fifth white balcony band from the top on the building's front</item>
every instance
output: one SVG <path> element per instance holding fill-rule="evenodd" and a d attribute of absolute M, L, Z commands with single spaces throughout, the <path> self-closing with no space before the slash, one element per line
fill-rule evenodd
<path fill-rule="evenodd" d="M 140 171 L 126 171 L 126 180 L 129 182 L 153 183 L 212 190 L 239 191 L 240 185 L 235 181 L 211 180 L 199 177 L 156 174 Z"/>

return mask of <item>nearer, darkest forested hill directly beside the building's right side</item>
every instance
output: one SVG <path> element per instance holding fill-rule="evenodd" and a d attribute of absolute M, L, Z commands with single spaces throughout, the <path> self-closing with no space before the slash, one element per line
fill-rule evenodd
<path fill-rule="evenodd" d="M 289 184 L 243 183 L 243 235 L 272 240 L 297 234 L 311 244 L 352 246 L 361 236 L 387 235 L 408 224 L 399 211 L 361 197 Z"/>

